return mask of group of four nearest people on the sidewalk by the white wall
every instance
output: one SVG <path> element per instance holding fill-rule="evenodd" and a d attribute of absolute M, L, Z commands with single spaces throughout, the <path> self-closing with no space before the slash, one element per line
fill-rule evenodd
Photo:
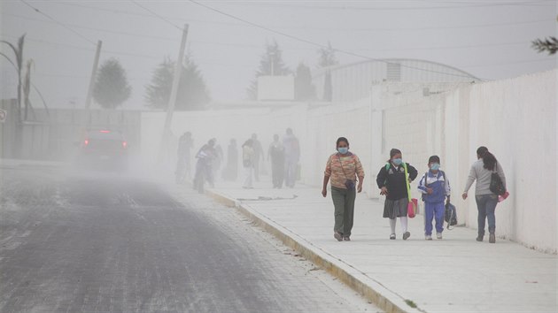
<path fill-rule="evenodd" d="M 351 240 L 356 194 L 362 191 L 364 169 L 358 156 L 349 151 L 349 141 L 339 137 L 336 142 L 337 152 L 329 156 L 326 163 L 322 195 L 328 195 L 328 184 L 331 187 L 331 199 L 334 206 L 333 236 L 339 241 Z M 418 184 L 418 192 L 424 202 L 424 239 L 432 240 L 432 221 L 435 221 L 436 238 L 442 240 L 446 204 L 450 202 L 451 187 L 446 172 L 440 169 L 439 156 L 430 156 L 428 170 L 422 175 Z M 496 218 L 494 211 L 499 196 L 491 191 L 492 173 L 497 173 L 506 187 L 506 176 L 496 157 L 486 147 L 477 149 L 477 162 L 469 171 L 465 189 L 461 197 L 467 199 L 469 188 L 477 181 L 475 196 L 478 210 L 477 241 L 484 240 L 485 221 L 488 219 L 489 242 L 496 241 Z M 403 161 L 399 149 L 391 149 L 390 158 L 382 165 L 376 176 L 376 185 L 380 195 L 385 195 L 383 217 L 390 223 L 390 240 L 397 239 L 396 224 L 399 218 L 401 238 L 407 240 L 408 231 L 407 206 L 411 199 L 410 183 L 418 177 L 416 168 Z"/>

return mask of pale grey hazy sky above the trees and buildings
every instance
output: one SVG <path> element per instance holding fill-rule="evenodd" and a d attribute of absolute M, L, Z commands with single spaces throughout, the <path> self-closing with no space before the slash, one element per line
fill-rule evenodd
<path fill-rule="evenodd" d="M 144 87 L 164 57 L 178 54 L 190 25 L 188 50 L 213 100 L 243 100 L 264 44 L 275 40 L 292 69 L 314 67 L 318 47 L 247 25 L 187 0 L 2 0 L 1 37 L 27 33 L 25 57 L 33 81 L 51 107 L 81 107 L 97 40 L 101 62 L 117 57 L 132 96 L 125 109 L 143 109 Z M 502 79 L 556 67 L 556 57 L 531 49 L 535 38 L 556 35 L 556 0 L 200 1 L 214 9 L 368 57 L 421 58 L 458 67 L 483 79 Z M 148 10 L 145 10 L 144 8 Z M 155 16 L 159 15 L 159 17 Z M 2 51 L 12 56 L 6 45 Z M 337 52 L 342 64 L 360 61 Z M 2 97 L 15 96 L 12 65 L 1 58 Z M 32 101 L 35 95 L 32 96 Z M 33 101 L 35 106 L 38 100 Z"/>

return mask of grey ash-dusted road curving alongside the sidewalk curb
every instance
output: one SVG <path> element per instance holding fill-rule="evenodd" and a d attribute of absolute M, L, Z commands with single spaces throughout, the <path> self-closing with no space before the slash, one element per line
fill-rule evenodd
<path fill-rule="evenodd" d="M 0 166 L 1 312 L 376 312 L 190 191 Z"/>

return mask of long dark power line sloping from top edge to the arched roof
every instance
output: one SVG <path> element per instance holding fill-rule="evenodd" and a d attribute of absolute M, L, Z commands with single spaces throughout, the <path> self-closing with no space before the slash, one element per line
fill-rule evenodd
<path fill-rule="evenodd" d="M 292 40 L 296 40 L 296 41 L 298 41 L 298 42 L 305 42 L 305 43 L 307 43 L 307 44 L 310 44 L 310 45 L 313 45 L 313 46 L 316 46 L 316 47 L 319 47 L 319 48 L 322 48 L 322 49 L 329 49 L 329 46 L 323 45 L 323 44 L 321 44 L 321 43 L 311 42 L 311 41 L 309 41 L 309 40 L 307 40 L 307 39 L 300 38 L 300 37 L 294 36 L 294 35 L 292 35 L 292 34 L 285 34 L 285 33 L 283 33 L 283 32 L 276 31 L 275 29 L 271 29 L 271 28 L 269 28 L 269 27 L 265 27 L 265 26 L 262 26 L 262 25 L 260 25 L 260 24 L 253 23 L 253 22 L 251 22 L 251 21 L 249 21 L 249 20 L 242 19 L 242 18 L 238 18 L 238 17 L 236 17 L 235 15 L 229 14 L 229 13 L 227 13 L 227 12 L 225 12 L 225 11 L 221 11 L 221 10 L 215 9 L 215 8 L 209 6 L 209 5 L 201 4 L 201 3 L 199 3 L 198 1 L 194 1 L 194 0 L 188 0 L 188 1 L 190 1 L 192 4 L 197 4 L 197 5 L 199 5 L 199 6 L 204 7 L 204 8 L 207 9 L 207 10 L 217 12 L 217 13 L 219 13 L 219 14 L 221 14 L 221 15 L 224 15 L 224 16 L 227 16 L 227 17 L 229 17 L 229 18 L 231 18 L 231 19 L 236 19 L 236 20 L 242 21 L 242 22 L 244 22 L 244 23 L 246 23 L 246 24 L 248 24 L 248 25 L 252 25 L 252 27 L 257 27 L 257 28 L 266 30 L 267 32 L 270 32 L 270 33 L 273 33 L 273 34 L 279 34 L 279 35 L 282 35 L 282 36 L 284 36 L 284 37 L 291 38 Z M 410 66 L 410 65 L 393 64 L 393 63 L 391 63 L 391 62 L 389 62 L 389 61 L 385 61 L 385 60 L 383 60 L 383 59 L 379 59 L 379 58 L 375 58 L 375 57 L 363 56 L 363 55 L 360 55 L 360 54 L 357 54 L 357 53 L 354 53 L 354 52 L 351 52 L 351 51 L 347 51 L 347 50 L 339 50 L 339 49 L 333 49 L 333 50 L 335 50 L 335 51 L 337 51 L 337 52 L 344 53 L 344 54 L 349 55 L 349 56 L 353 56 L 353 57 L 361 57 L 361 58 L 368 59 L 368 60 L 372 60 L 372 61 L 376 61 L 376 62 L 382 62 L 382 63 L 385 63 L 385 64 L 387 64 L 387 65 L 398 65 L 398 66 L 401 66 L 401 67 L 407 67 L 407 68 L 409 68 L 409 69 L 415 69 L 415 70 L 423 71 L 423 72 L 438 73 L 438 74 L 444 74 L 444 75 L 449 75 L 449 76 L 470 78 L 469 75 L 461 75 L 461 74 L 457 74 L 457 73 L 445 73 L 445 72 L 441 72 L 441 71 L 434 71 L 434 70 L 429 70 L 429 69 L 425 69 L 425 68 L 421 68 L 421 67 L 415 67 L 415 66 Z"/>

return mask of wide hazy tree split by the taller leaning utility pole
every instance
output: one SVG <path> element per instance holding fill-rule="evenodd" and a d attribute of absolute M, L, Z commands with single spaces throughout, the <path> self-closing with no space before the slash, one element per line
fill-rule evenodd
<path fill-rule="evenodd" d="M 153 71 L 151 84 L 145 87 L 145 102 L 152 109 L 167 109 L 174 79 L 174 61 L 165 58 Z M 211 97 L 198 65 L 190 56 L 184 57 L 182 73 L 176 94 L 177 111 L 201 110 Z"/>

